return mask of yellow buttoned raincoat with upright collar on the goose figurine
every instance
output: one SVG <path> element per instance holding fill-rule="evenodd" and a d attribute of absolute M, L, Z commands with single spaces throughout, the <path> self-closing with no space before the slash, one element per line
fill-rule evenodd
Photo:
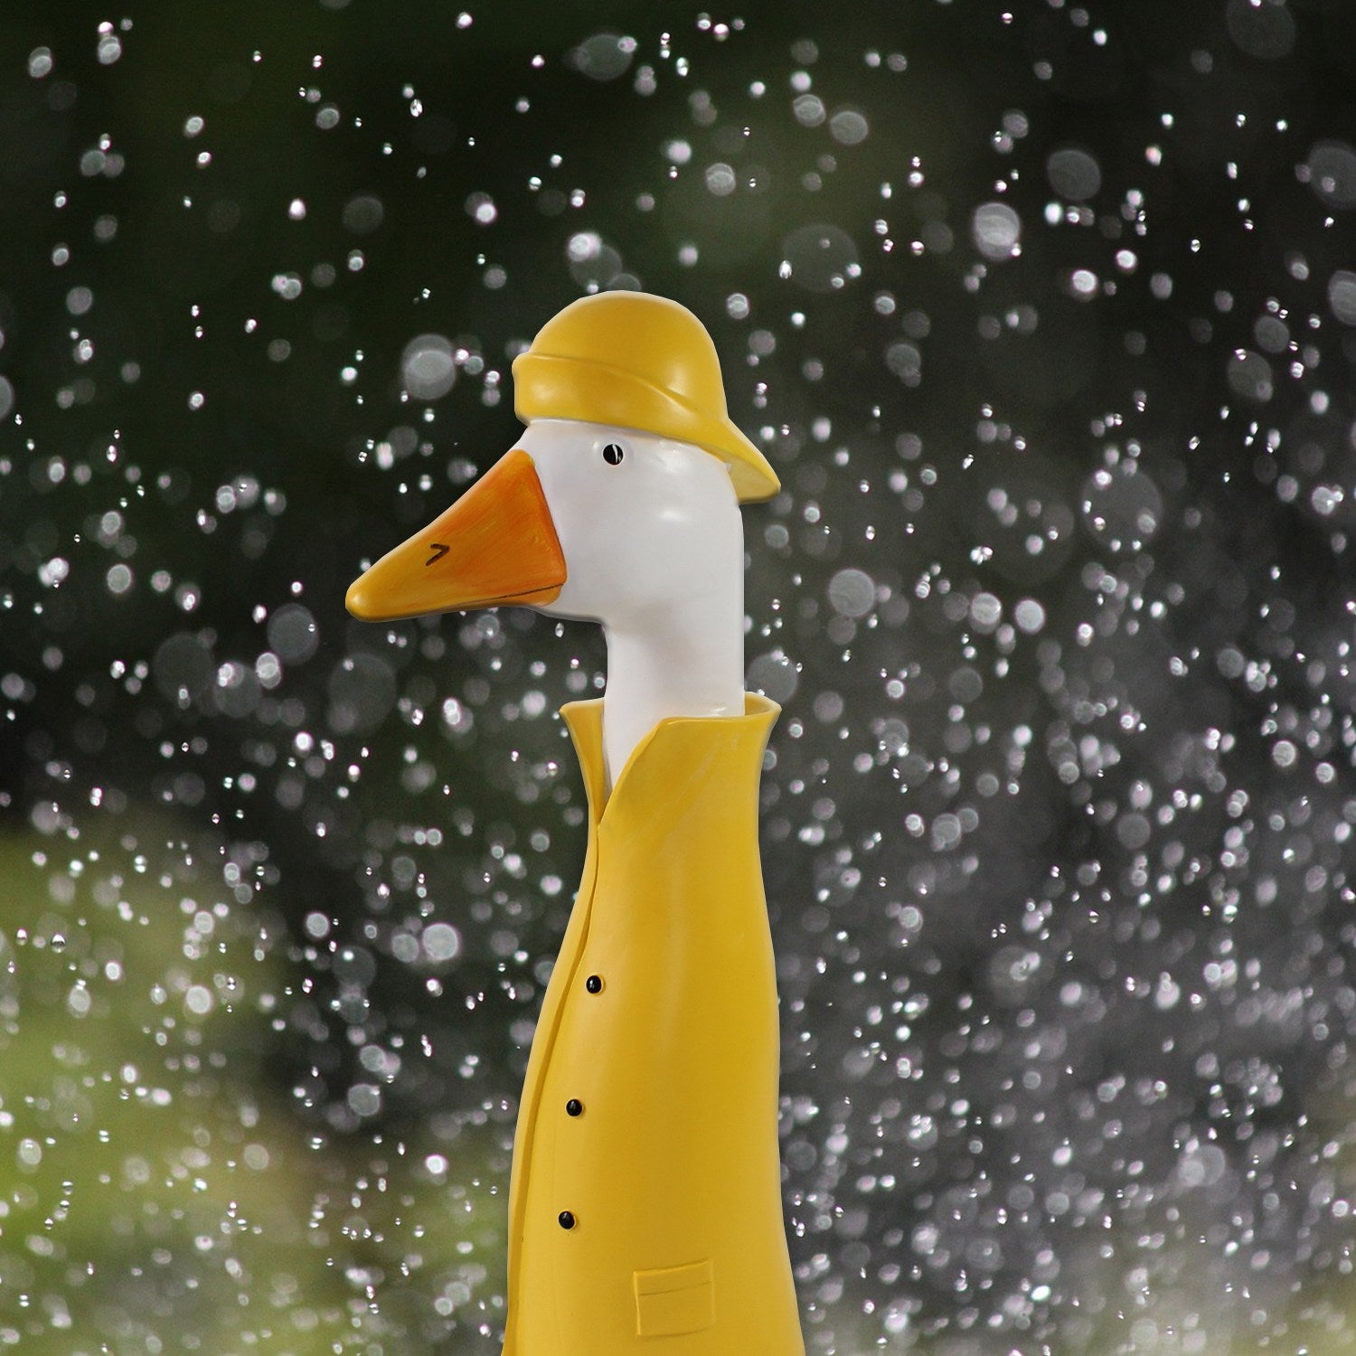
<path fill-rule="evenodd" d="M 758 860 L 777 711 L 660 721 L 605 804 L 602 702 L 564 708 L 589 853 L 519 1108 L 504 1356 L 804 1352 Z"/>

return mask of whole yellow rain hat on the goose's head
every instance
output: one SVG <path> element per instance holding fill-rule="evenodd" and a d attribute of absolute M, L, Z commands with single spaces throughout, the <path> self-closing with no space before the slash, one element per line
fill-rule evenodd
<path fill-rule="evenodd" d="M 513 365 L 514 410 L 637 428 L 709 452 L 740 503 L 781 488 L 767 458 L 725 410 L 720 359 L 702 323 L 645 292 L 599 292 L 548 320 Z"/>

